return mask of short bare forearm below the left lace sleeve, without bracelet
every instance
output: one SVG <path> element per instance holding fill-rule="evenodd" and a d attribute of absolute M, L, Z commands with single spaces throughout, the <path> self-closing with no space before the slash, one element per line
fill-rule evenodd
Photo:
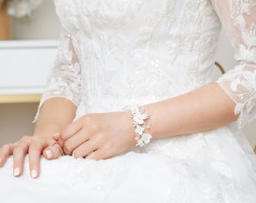
<path fill-rule="evenodd" d="M 34 135 L 51 137 L 75 118 L 76 106 L 66 98 L 50 98 L 41 107 Z"/>

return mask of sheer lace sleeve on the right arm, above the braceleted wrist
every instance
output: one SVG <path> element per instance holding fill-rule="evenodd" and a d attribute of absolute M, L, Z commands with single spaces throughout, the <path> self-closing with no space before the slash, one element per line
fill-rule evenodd
<path fill-rule="evenodd" d="M 256 0 L 212 0 L 239 62 L 217 83 L 236 103 L 239 127 L 256 118 Z"/>

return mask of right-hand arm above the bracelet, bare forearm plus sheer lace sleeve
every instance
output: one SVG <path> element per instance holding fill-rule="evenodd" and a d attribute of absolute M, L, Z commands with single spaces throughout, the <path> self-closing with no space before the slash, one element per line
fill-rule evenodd
<path fill-rule="evenodd" d="M 239 127 L 256 118 L 255 2 L 212 0 L 239 62 L 221 76 L 193 92 L 148 105 L 155 138 L 214 129 L 238 120 Z M 166 109 L 166 111 L 165 111 Z"/>

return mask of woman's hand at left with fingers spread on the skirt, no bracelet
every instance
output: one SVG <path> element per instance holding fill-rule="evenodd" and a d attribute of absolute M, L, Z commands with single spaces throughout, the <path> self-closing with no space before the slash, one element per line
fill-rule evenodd
<path fill-rule="evenodd" d="M 9 156 L 13 156 L 14 176 L 23 174 L 23 162 L 26 154 L 29 156 L 29 169 L 32 178 L 39 175 L 39 162 L 41 155 L 46 159 L 56 159 L 62 156 L 62 147 L 53 138 L 39 136 L 24 136 L 16 143 L 5 144 L 0 149 L 0 167 L 5 165 Z"/>

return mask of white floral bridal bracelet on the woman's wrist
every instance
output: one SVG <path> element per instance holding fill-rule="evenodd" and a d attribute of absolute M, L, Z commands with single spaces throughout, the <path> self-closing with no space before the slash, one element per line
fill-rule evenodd
<path fill-rule="evenodd" d="M 136 146 L 145 147 L 151 141 L 152 135 L 144 133 L 145 129 L 149 129 L 148 124 L 145 122 L 149 118 L 148 112 L 144 111 L 138 106 L 133 106 L 131 108 L 126 108 L 127 111 L 131 112 L 131 117 L 133 119 L 133 127 L 136 133 Z"/>

